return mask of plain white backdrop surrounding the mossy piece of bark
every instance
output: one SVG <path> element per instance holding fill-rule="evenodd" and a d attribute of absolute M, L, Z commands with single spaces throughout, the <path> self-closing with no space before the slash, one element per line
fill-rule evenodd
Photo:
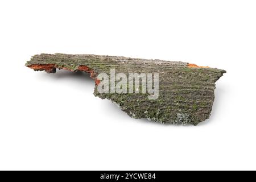
<path fill-rule="evenodd" d="M 0 1 L 0 169 L 256 169 L 255 1 Z M 37 53 L 225 69 L 197 126 L 133 119 Z"/>

